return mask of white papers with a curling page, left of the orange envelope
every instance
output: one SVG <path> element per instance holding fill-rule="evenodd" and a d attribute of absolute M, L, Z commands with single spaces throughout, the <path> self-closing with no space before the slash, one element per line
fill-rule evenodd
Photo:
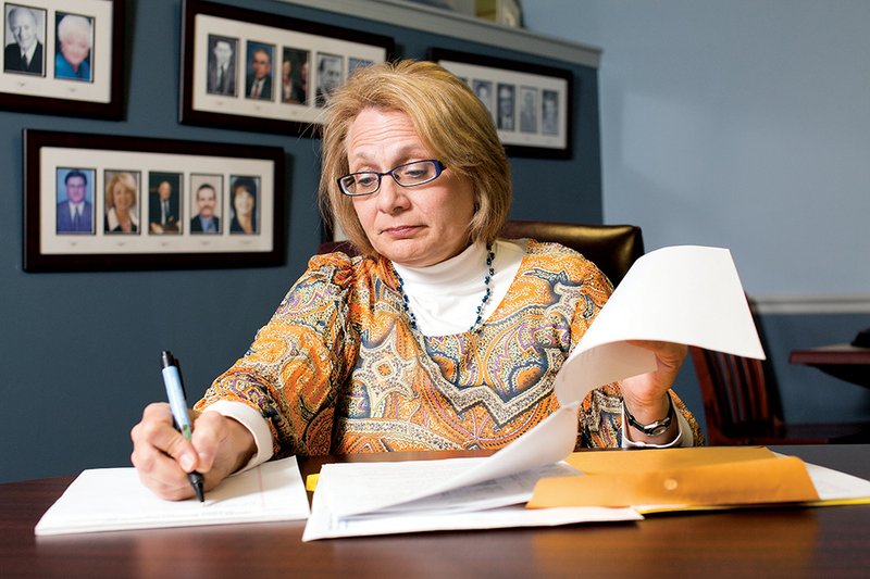
<path fill-rule="evenodd" d="M 641 518 L 630 508 L 524 507 L 539 479 L 579 474 L 561 461 L 576 416 L 577 404 L 562 407 L 486 458 L 324 465 L 302 540 Z"/>

